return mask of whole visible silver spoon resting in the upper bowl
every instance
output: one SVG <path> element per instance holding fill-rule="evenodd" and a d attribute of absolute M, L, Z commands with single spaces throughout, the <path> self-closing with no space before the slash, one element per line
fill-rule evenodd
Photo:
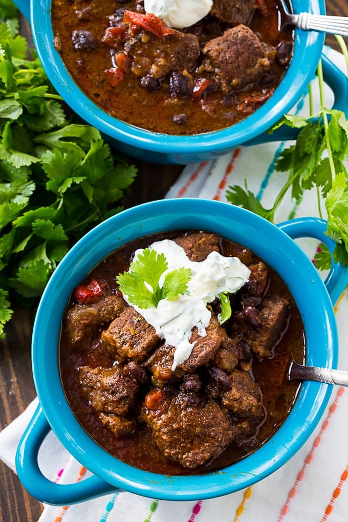
<path fill-rule="evenodd" d="M 311 13 L 293 15 L 289 13 L 285 0 L 280 1 L 279 10 L 281 29 L 294 26 L 306 31 L 319 31 L 348 37 L 348 17 L 312 15 Z"/>

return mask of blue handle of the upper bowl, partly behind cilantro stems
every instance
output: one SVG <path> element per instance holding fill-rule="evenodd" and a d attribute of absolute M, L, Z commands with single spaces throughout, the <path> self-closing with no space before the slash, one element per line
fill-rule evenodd
<path fill-rule="evenodd" d="M 324 53 L 321 55 L 321 62 L 324 80 L 332 90 L 334 96 L 332 109 L 342 111 L 346 116 L 348 116 L 348 78 Z M 316 123 L 318 118 L 311 118 L 311 121 Z M 287 125 L 282 125 L 272 134 L 264 132 L 259 136 L 246 141 L 243 145 L 249 146 L 269 143 L 271 141 L 295 140 L 300 131 L 301 128 L 297 129 L 288 127 Z"/>

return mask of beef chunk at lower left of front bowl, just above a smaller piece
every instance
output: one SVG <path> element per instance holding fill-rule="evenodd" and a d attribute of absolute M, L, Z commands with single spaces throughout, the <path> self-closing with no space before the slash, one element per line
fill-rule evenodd
<path fill-rule="evenodd" d="M 79 368 L 82 393 L 97 411 L 124 415 L 135 404 L 138 383 L 124 374 L 122 367 Z"/>

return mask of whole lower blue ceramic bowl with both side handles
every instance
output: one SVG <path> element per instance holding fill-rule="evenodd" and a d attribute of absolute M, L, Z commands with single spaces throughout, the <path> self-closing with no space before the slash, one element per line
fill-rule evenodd
<path fill-rule="evenodd" d="M 33 328 L 32 368 L 40 400 L 19 444 L 18 476 L 37 499 L 70 504 L 117 488 L 155 499 L 196 500 L 232 493 L 267 477 L 289 460 L 319 422 L 332 386 L 306 382 L 281 428 L 254 454 L 219 473 L 167 477 L 131 467 L 102 449 L 81 427 L 65 398 L 58 369 L 61 319 L 74 287 L 115 248 L 147 234 L 197 229 L 217 232 L 241 243 L 278 271 L 292 292 L 303 318 L 307 364 L 335 367 L 338 338 L 333 305 L 348 282 L 348 269 L 333 264 L 325 282 L 313 263 L 293 241 L 313 237 L 334 243 L 325 235 L 326 222 L 303 218 L 279 226 L 247 210 L 220 201 L 167 199 L 125 210 L 84 236 L 64 257 L 42 296 Z M 56 436 L 93 476 L 79 483 L 59 485 L 38 467 L 38 452 L 46 433 Z"/>

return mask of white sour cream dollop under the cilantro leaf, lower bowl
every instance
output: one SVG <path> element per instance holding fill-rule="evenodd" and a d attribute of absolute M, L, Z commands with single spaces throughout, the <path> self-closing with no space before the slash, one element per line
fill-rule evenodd
<path fill-rule="evenodd" d="M 133 305 L 155 328 L 157 335 L 175 347 L 172 365 L 174 371 L 178 364 L 189 358 L 195 346 L 196 341 L 190 343 L 192 329 L 196 326 L 201 337 L 207 335 L 206 328 L 211 318 L 207 304 L 218 298 L 222 292 L 233 293 L 239 290 L 249 280 L 250 270 L 238 257 L 225 257 L 219 252 L 211 252 L 200 263 L 191 261 L 184 248 L 172 240 L 156 241 L 149 248 L 158 254 L 164 254 L 167 260 L 168 267 L 159 281 L 160 287 L 167 272 L 178 268 L 191 270 L 187 290 L 177 299 L 162 299 L 157 307 L 150 306 L 147 309 Z M 142 249 L 135 252 L 134 261 L 142 252 Z M 127 295 L 124 298 L 128 302 Z"/>

